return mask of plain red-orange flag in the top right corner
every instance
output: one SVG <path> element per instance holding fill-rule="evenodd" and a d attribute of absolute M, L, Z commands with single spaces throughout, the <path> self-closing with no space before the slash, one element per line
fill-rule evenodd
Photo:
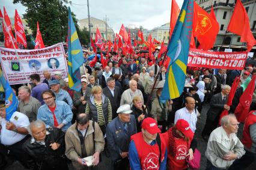
<path fill-rule="evenodd" d="M 247 43 L 248 52 L 252 49 L 252 46 L 256 44 L 254 35 L 252 35 L 252 31 L 250 29 L 248 14 L 240 0 L 236 1 L 236 6 L 227 30 L 241 36 L 240 42 Z"/>

